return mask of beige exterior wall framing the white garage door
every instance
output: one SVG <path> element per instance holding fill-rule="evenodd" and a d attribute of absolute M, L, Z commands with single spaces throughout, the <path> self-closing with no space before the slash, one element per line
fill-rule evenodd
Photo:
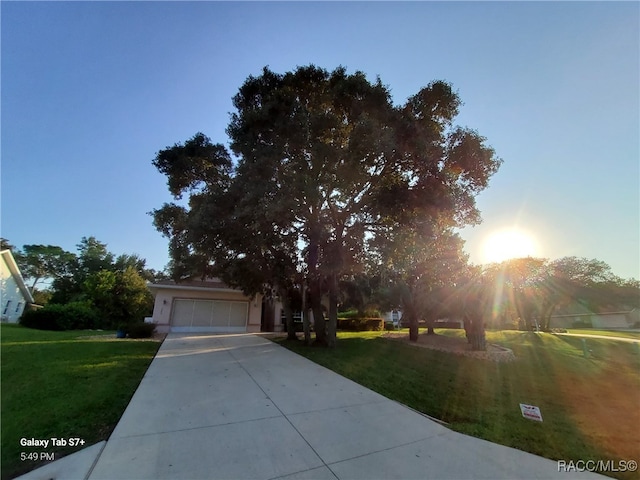
<path fill-rule="evenodd" d="M 153 305 L 153 323 L 160 333 L 167 333 L 171 329 L 171 312 L 174 300 L 200 299 L 200 300 L 235 300 L 249 302 L 249 318 L 247 320 L 247 332 L 260 331 L 260 319 L 262 316 L 262 296 L 257 295 L 253 299 L 246 297 L 242 292 L 235 291 L 207 291 L 204 289 L 190 290 L 186 288 L 157 288 Z"/>

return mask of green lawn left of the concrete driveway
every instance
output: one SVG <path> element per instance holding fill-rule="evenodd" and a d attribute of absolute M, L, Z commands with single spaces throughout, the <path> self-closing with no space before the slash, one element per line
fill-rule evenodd
<path fill-rule="evenodd" d="M 114 333 L 0 326 L 3 479 L 39 466 L 21 452 L 58 459 L 82 448 L 23 447 L 23 437 L 79 437 L 85 447 L 109 437 L 160 346 Z"/>

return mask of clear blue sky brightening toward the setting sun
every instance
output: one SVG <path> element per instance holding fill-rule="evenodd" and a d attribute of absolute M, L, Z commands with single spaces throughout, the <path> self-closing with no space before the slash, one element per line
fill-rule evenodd
<path fill-rule="evenodd" d="M 432 80 L 504 160 L 462 231 L 474 263 L 518 228 L 535 254 L 640 278 L 640 5 L 1 2 L 1 232 L 75 251 L 95 236 L 162 269 L 156 152 L 227 143 L 231 98 L 265 65 L 379 75 L 403 103 Z"/>

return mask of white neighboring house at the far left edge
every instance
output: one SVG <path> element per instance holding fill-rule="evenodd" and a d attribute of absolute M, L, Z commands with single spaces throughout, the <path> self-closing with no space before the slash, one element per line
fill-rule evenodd
<path fill-rule="evenodd" d="M 0 251 L 0 320 L 17 323 L 27 304 L 33 303 L 31 292 L 20 274 L 11 250 Z"/>

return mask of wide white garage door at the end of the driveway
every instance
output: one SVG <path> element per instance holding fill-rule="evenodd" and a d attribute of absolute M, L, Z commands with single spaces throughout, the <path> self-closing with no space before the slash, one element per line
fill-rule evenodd
<path fill-rule="evenodd" d="M 173 302 L 172 332 L 244 333 L 248 302 L 180 299 Z"/>

